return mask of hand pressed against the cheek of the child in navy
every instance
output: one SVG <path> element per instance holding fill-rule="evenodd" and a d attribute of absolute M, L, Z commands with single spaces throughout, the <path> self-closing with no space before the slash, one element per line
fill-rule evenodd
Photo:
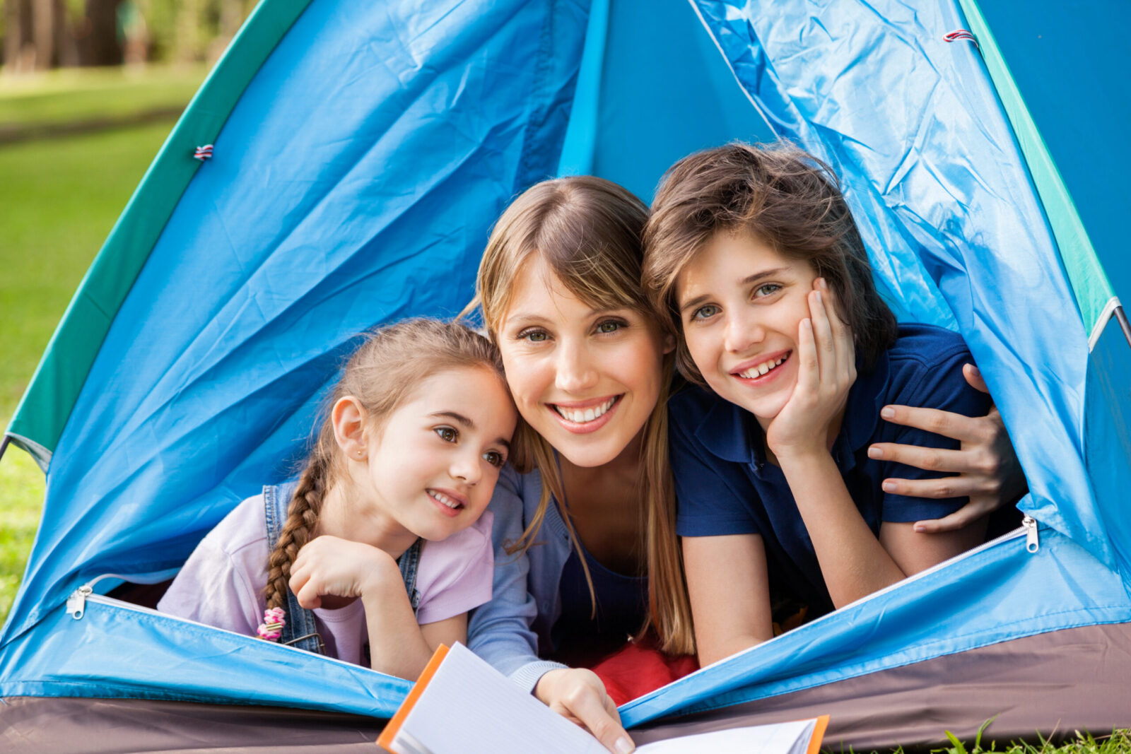
<path fill-rule="evenodd" d="M 809 313 L 797 327 L 797 382 L 766 431 L 766 444 L 779 459 L 828 452 L 829 428 L 841 416 L 856 381 L 852 331 L 840 321 L 824 278 L 813 281 Z"/>

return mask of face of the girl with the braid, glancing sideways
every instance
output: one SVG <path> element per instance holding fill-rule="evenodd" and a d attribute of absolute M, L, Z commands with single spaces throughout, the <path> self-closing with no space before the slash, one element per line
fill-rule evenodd
<path fill-rule="evenodd" d="M 439 372 L 369 434 L 369 478 L 379 510 L 424 539 L 474 523 L 491 501 L 517 414 L 483 367 Z"/>

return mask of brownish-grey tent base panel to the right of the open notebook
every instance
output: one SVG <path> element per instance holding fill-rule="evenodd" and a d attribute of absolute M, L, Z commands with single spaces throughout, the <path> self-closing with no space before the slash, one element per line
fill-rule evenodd
<path fill-rule="evenodd" d="M 1076 678 L 1076 683 L 1065 683 Z M 829 716 L 826 751 L 931 748 L 947 730 L 972 742 L 1036 743 L 1131 727 L 1131 624 L 1004 641 L 632 731 L 638 744 L 739 726 Z"/>

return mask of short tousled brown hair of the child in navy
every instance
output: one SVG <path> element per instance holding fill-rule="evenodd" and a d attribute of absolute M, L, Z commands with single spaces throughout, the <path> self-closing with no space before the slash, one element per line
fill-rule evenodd
<path fill-rule="evenodd" d="M 896 318 L 875 291 L 836 175 L 812 155 L 787 142 L 735 142 L 684 157 L 667 171 L 645 229 L 642 283 L 676 332 L 675 283 L 718 233 L 751 234 L 787 259 L 809 262 L 837 295 L 863 372 L 895 343 Z M 676 362 L 689 380 L 705 384 L 682 338 Z"/>

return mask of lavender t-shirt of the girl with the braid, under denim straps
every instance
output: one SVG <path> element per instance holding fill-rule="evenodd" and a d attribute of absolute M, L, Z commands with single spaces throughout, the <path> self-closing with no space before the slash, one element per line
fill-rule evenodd
<path fill-rule="evenodd" d="M 486 511 L 468 528 L 421 546 L 417 623 L 443 621 L 491 599 L 491 521 L 492 513 Z M 267 606 L 264 588 L 269 554 L 264 499 L 256 495 L 240 503 L 197 545 L 157 609 L 254 636 Z M 333 610 L 316 609 L 314 618 L 329 657 L 363 664 L 369 633 L 360 599 Z"/>

